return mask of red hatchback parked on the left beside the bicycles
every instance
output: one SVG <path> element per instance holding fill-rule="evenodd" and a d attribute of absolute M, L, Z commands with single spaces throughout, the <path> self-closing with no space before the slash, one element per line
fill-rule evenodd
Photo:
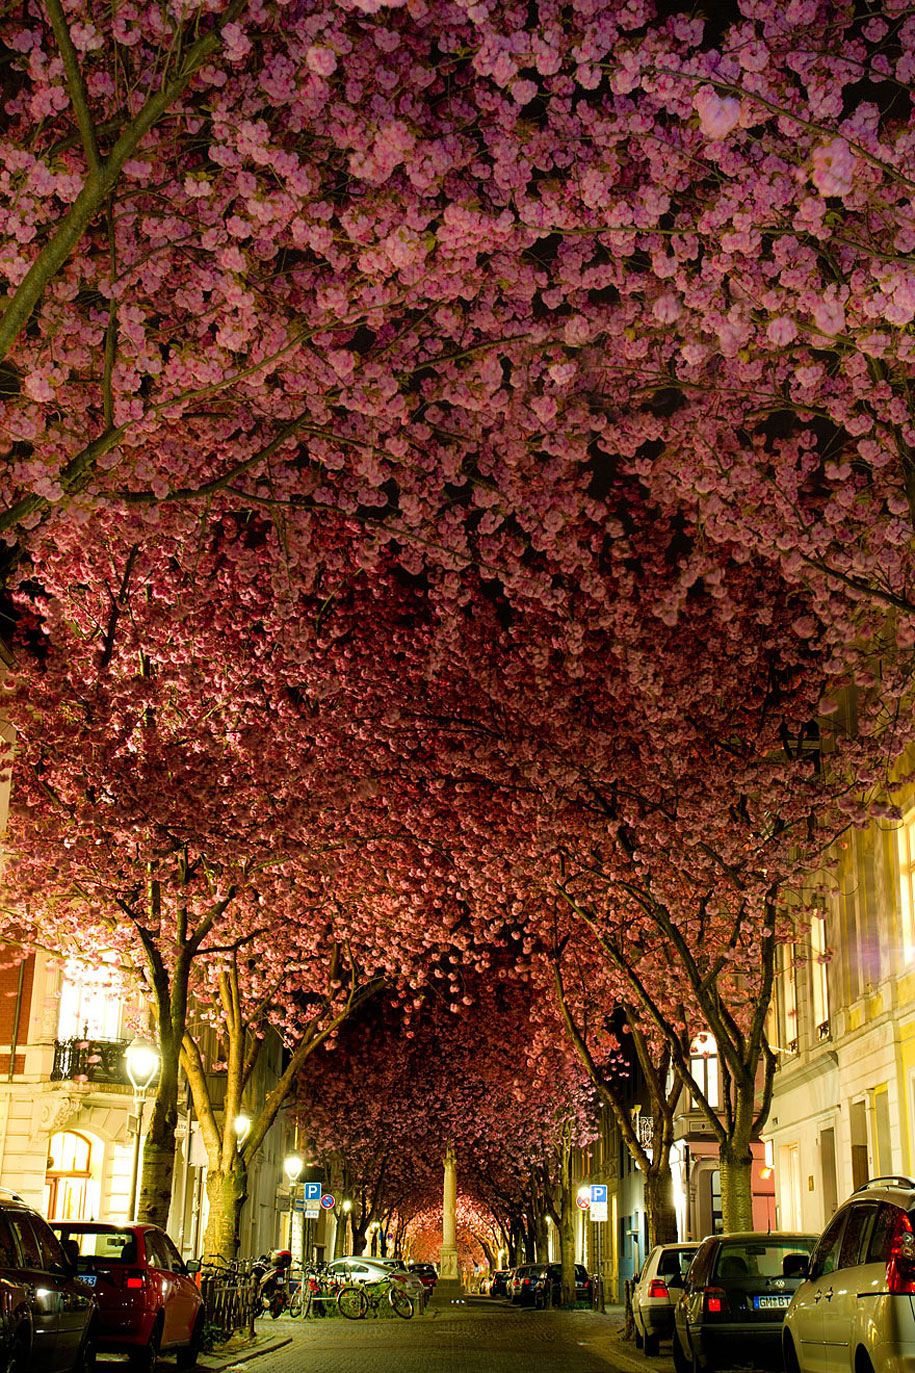
<path fill-rule="evenodd" d="M 172 1350 L 179 1369 L 196 1366 L 203 1340 L 203 1302 L 165 1230 L 155 1225 L 55 1221 L 77 1271 L 99 1304 L 96 1347 L 128 1354 L 131 1366 L 152 1370 L 159 1351 Z"/>

